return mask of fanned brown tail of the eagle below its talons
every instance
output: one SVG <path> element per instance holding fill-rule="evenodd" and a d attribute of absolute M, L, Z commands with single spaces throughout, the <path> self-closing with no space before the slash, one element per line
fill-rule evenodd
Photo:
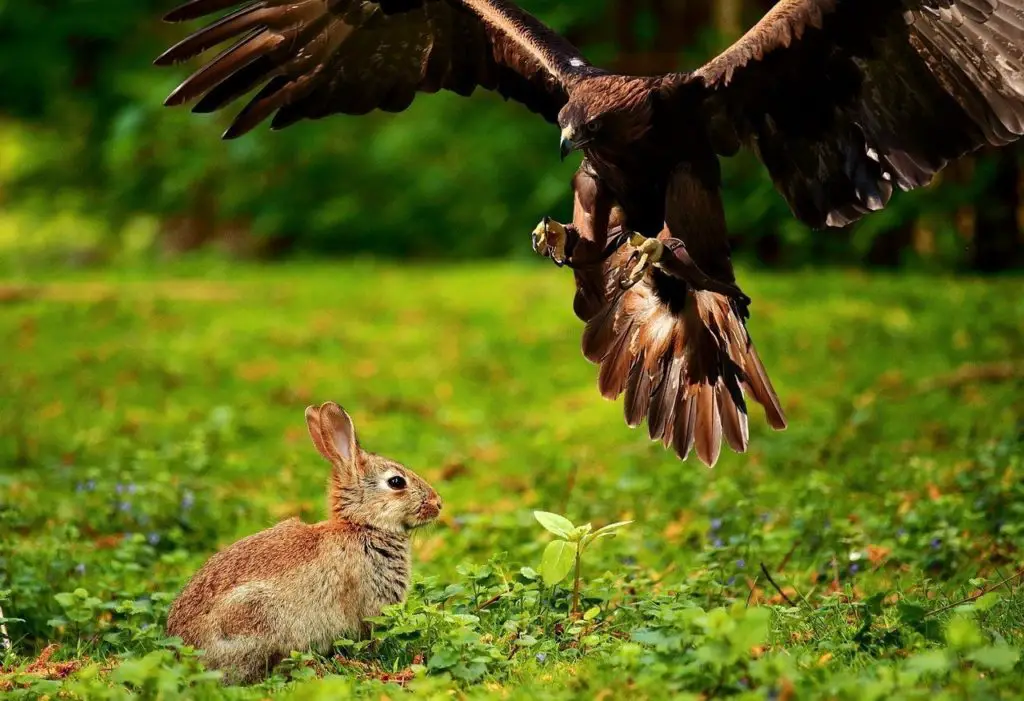
<path fill-rule="evenodd" d="M 583 352 L 600 365 L 604 397 L 625 392 L 627 425 L 646 419 L 651 440 L 682 459 L 695 448 L 714 467 L 723 439 L 736 452 L 748 449 L 744 392 L 764 406 L 771 428 L 785 428 L 775 389 L 732 302 L 659 270 L 605 298 L 587 322 Z"/>

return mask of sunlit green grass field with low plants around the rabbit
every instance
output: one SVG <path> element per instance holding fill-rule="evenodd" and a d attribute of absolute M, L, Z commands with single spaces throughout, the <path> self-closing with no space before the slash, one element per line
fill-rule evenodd
<path fill-rule="evenodd" d="M 599 397 L 550 266 L 3 280 L 0 691 L 1020 698 L 1022 281 L 741 270 L 791 426 L 755 406 L 750 452 L 709 471 Z M 218 547 L 324 517 L 302 412 L 328 399 L 443 517 L 372 643 L 222 688 L 167 608 Z M 535 510 L 633 520 L 586 552 L 578 619 L 571 576 L 539 578 Z"/>

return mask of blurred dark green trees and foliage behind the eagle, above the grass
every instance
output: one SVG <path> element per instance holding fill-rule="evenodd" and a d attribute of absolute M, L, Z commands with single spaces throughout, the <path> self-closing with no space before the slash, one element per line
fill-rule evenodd
<path fill-rule="evenodd" d="M 522 2 L 594 62 L 627 73 L 695 68 L 771 4 Z M 91 262 L 211 243 L 234 256 L 526 257 L 541 216 L 568 217 L 575 161 L 559 164 L 550 125 L 484 91 L 220 141 L 230 111 L 162 106 L 194 68 L 152 65 L 189 29 L 159 19 L 173 5 L 0 1 L 8 260 L 67 260 L 70 251 Z M 854 228 L 815 234 L 742 154 L 725 161 L 736 255 L 771 266 L 1017 267 L 1019 155 L 981 152 Z"/>

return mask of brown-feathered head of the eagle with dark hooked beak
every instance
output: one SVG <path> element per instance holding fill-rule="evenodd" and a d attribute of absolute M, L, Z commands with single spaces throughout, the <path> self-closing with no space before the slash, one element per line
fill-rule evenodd
<path fill-rule="evenodd" d="M 560 151 L 614 150 L 626 147 L 650 128 L 649 82 L 624 76 L 599 76 L 581 83 L 558 113 Z"/>

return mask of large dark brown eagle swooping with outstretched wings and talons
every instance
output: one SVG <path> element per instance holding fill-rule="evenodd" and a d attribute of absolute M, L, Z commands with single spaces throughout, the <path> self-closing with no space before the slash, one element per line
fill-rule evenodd
<path fill-rule="evenodd" d="M 748 398 L 786 426 L 746 331 L 720 159 L 753 150 L 827 229 L 1024 132 L 1024 0 L 779 0 L 709 62 L 654 76 L 591 64 L 507 0 L 190 0 L 165 19 L 210 15 L 156 63 L 228 44 L 165 101 L 244 102 L 224 138 L 477 88 L 557 128 L 563 160 L 582 151 L 572 221 L 545 217 L 532 248 L 572 271 L 601 395 L 709 467 L 723 438 L 748 449 Z"/>

